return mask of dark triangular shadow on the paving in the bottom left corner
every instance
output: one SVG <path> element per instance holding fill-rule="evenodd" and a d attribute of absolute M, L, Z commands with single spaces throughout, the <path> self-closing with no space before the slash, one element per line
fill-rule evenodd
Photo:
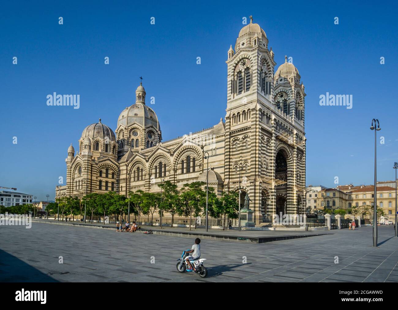
<path fill-rule="evenodd" d="M 0 249 L 0 282 L 59 282 Z"/>

